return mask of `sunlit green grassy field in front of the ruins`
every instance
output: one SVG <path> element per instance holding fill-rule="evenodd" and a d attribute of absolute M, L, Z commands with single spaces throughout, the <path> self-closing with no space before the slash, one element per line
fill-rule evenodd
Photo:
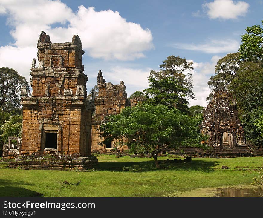
<path fill-rule="evenodd" d="M 0 196 L 168 196 L 176 191 L 250 184 L 263 166 L 262 157 L 193 158 L 188 163 L 163 163 L 157 170 L 153 158 L 97 158 L 99 164 L 89 172 L 7 169 L 0 162 Z M 180 159 L 159 160 L 174 158 Z M 222 165 L 229 169 L 221 169 Z"/>

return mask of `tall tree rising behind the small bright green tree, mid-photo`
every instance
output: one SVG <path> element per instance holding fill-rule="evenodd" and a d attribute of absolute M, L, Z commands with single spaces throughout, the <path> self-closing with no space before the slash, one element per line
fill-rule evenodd
<path fill-rule="evenodd" d="M 186 112 L 189 104 L 187 99 L 195 99 L 190 73 L 192 64 L 185 58 L 172 55 L 159 66 L 160 71 L 152 70 L 148 77 L 149 88 L 144 90 L 152 96 L 149 102 Z"/>

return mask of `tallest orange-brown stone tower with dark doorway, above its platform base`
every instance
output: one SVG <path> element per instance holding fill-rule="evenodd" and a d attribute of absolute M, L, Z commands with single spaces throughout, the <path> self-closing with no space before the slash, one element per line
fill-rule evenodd
<path fill-rule="evenodd" d="M 71 157 L 91 153 L 92 103 L 86 100 L 82 50 L 79 36 L 72 42 L 51 43 L 41 32 L 39 66 L 31 66 L 32 96 L 21 93 L 23 106 L 23 154 L 56 154 Z"/>

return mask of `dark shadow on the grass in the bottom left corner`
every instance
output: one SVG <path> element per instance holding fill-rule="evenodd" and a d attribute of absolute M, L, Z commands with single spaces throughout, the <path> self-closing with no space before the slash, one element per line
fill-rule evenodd
<path fill-rule="evenodd" d="M 30 189 L 19 187 L 19 185 L 32 185 L 25 182 L 14 182 L 0 179 L 0 197 L 42 197 L 43 194 Z M 34 185 L 34 184 L 33 184 Z"/>

